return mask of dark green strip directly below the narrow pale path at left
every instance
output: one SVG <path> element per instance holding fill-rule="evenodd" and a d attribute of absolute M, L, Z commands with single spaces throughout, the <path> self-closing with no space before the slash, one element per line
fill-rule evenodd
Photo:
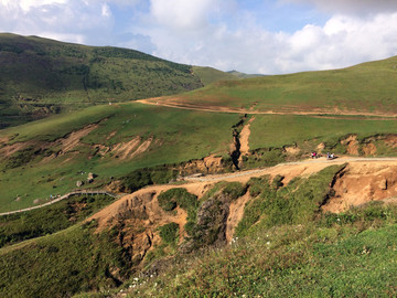
<path fill-rule="evenodd" d="M 0 216 L 0 247 L 65 230 L 114 200 L 107 195 L 72 196 L 43 209 Z"/>

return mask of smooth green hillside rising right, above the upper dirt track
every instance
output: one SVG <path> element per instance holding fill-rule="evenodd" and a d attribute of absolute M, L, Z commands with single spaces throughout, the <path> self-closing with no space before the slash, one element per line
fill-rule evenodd
<path fill-rule="evenodd" d="M 219 82 L 180 103 L 283 113 L 397 113 L 397 57 L 335 71 Z"/>

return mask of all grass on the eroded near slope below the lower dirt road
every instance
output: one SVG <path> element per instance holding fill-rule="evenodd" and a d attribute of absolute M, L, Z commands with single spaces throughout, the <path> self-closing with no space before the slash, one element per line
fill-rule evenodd
<path fill-rule="evenodd" d="M 162 244 L 144 260 L 149 270 L 150 264 L 163 269 L 157 277 L 140 276 L 139 283 L 126 280 L 130 262 L 128 251 L 116 245 L 119 231 L 94 233 L 95 222 L 0 248 L 0 295 L 65 297 L 94 290 L 78 297 L 109 297 L 120 291 L 109 287 L 124 283 L 127 297 L 394 296 L 397 206 L 373 202 L 341 214 L 319 212 L 341 167 L 288 185 L 281 185 L 281 177 L 251 179 L 247 185 L 217 183 L 200 202 L 197 210 L 206 204 L 206 214 L 194 232 L 210 230 L 201 230 L 197 241 L 217 234 L 219 203 L 230 203 L 247 188 L 257 196 L 246 205 L 232 245 L 181 254 L 178 224 L 160 226 Z M 182 207 L 197 203 L 183 189 L 161 195 Z M 170 256 L 172 266 L 159 265 Z"/>

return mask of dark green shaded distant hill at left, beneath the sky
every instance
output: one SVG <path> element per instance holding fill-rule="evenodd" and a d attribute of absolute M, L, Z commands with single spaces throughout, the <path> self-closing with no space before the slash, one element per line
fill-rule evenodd
<path fill-rule="evenodd" d="M 0 128 L 92 105 L 178 94 L 233 77 L 194 70 L 127 49 L 2 33 Z"/>

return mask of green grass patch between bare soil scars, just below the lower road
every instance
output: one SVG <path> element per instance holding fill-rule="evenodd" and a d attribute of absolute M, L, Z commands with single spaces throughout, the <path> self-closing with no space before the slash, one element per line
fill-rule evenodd
<path fill-rule="evenodd" d="M 235 235 L 245 236 L 253 233 L 251 230 L 312 222 L 328 199 L 330 182 L 344 167 L 328 167 L 309 179 L 291 180 L 283 188 L 279 188 L 278 178 L 272 183 L 268 177 L 251 179 L 248 182 L 249 192 L 256 198 L 246 204 Z"/>

